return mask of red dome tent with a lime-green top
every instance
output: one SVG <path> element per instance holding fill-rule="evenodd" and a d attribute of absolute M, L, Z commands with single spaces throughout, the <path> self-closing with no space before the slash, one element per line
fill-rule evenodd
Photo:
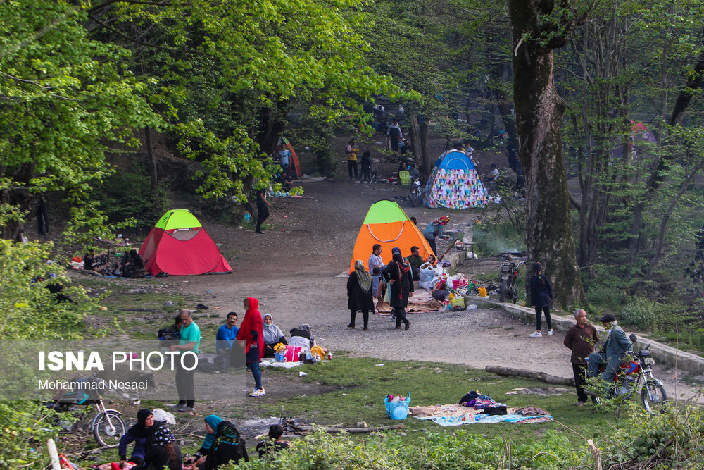
<path fill-rule="evenodd" d="M 139 248 L 144 269 L 156 276 L 231 273 L 232 268 L 196 216 L 187 209 L 164 214 Z"/>

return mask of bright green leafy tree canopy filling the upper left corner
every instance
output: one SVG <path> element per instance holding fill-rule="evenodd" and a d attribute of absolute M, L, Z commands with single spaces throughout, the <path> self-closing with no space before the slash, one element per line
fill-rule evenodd
<path fill-rule="evenodd" d="M 141 96 L 143 84 L 122 66 L 125 50 L 89 39 L 80 8 L 6 1 L 0 20 L 9 33 L 0 39 L 0 181 L 10 193 L 0 214 L 16 221 L 50 191 L 66 192 L 80 208 L 109 173 L 108 144 L 135 144 L 132 129 L 159 119 Z M 72 212 L 74 221 L 82 216 L 90 215 Z M 82 229 L 104 235 L 101 223 Z"/>

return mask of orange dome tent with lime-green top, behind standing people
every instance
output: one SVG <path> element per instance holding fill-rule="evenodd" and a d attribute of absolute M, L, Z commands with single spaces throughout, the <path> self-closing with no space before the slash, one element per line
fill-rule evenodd
<path fill-rule="evenodd" d="M 398 247 L 401 254 L 410 256 L 410 247 L 418 247 L 420 256 L 426 259 L 433 254 L 428 241 L 421 231 L 410 221 L 406 212 L 396 202 L 383 199 L 377 201 L 367 211 L 355 242 L 350 272 L 354 271 L 354 262 L 360 259 L 367 268 L 367 260 L 375 244 L 382 245 L 382 261 L 389 264 L 391 248 Z"/>

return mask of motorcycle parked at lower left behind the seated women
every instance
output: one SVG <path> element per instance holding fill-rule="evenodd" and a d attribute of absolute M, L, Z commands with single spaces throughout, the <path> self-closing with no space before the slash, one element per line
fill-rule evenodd
<path fill-rule="evenodd" d="M 122 413 L 118 412 L 116 409 L 106 408 L 103 397 L 96 390 L 88 386 L 89 383 L 97 381 L 104 382 L 103 379 L 96 377 L 79 378 L 75 382 L 87 384 L 85 387 L 87 390 L 82 390 L 81 388 L 71 390 L 70 392 L 63 392 L 62 390 L 61 395 L 55 397 L 53 402 L 44 403 L 44 406 L 54 409 L 59 413 L 73 413 L 76 407 L 94 406 L 97 412 L 90 423 L 93 437 L 102 447 L 118 447 L 120 438 L 127 432 L 127 426 L 125 425 L 125 421 L 122 420 Z M 112 403 L 113 402 L 108 402 L 108 404 Z M 61 426 L 63 432 L 73 433 L 80 426 L 82 416 L 80 414 L 74 414 L 74 418 L 76 418 L 75 423 L 69 423 L 68 421 L 61 421 L 61 419 L 59 419 L 58 425 Z"/>

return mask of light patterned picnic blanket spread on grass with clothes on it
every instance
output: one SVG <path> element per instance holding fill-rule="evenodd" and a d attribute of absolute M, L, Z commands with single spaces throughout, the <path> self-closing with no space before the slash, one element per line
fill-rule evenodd
<path fill-rule="evenodd" d="M 462 426 L 474 423 L 543 423 L 553 417 L 540 408 L 508 408 L 508 414 L 488 415 L 483 409 L 460 404 L 435 404 L 429 407 L 410 407 L 408 413 L 417 419 L 426 419 L 440 426 Z"/>

